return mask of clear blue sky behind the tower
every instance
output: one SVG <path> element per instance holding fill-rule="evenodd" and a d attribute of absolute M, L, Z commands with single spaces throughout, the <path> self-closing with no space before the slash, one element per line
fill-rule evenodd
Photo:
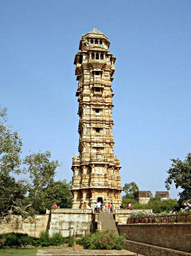
<path fill-rule="evenodd" d="M 62 163 L 57 179 L 70 180 L 79 140 L 73 59 L 94 27 L 117 57 L 113 132 L 122 183 L 164 191 L 170 158 L 191 152 L 190 0 L 0 0 L 0 104 L 23 155 L 49 150 Z"/>

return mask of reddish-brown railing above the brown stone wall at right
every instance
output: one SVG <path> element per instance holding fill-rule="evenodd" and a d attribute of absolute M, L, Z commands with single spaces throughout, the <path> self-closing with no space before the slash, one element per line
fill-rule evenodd
<path fill-rule="evenodd" d="M 191 214 L 146 216 L 127 219 L 127 224 L 135 223 L 191 223 Z"/>

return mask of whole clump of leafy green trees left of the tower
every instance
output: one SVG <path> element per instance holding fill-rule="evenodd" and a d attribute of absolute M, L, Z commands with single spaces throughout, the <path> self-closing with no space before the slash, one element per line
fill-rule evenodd
<path fill-rule="evenodd" d="M 45 213 L 53 203 L 71 207 L 71 183 L 54 181 L 57 160 L 50 152 L 33 153 L 21 160 L 21 138 L 6 124 L 6 108 L 0 108 L 0 216 Z M 18 180 L 25 173 L 27 179 Z"/>

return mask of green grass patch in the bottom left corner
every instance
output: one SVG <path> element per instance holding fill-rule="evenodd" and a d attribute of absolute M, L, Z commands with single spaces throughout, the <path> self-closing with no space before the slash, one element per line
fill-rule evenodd
<path fill-rule="evenodd" d="M 39 248 L 8 248 L 0 249 L 0 255 L 3 256 L 36 256 Z"/>

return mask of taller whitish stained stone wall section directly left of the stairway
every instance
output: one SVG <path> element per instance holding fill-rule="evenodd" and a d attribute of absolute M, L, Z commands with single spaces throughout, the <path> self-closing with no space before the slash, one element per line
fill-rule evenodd
<path fill-rule="evenodd" d="M 63 236 L 78 237 L 90 233 L 94 229 L 93 223 L 92 210 L 56 209 L 51 213 L 49 234 L 60 232 Z"/>

